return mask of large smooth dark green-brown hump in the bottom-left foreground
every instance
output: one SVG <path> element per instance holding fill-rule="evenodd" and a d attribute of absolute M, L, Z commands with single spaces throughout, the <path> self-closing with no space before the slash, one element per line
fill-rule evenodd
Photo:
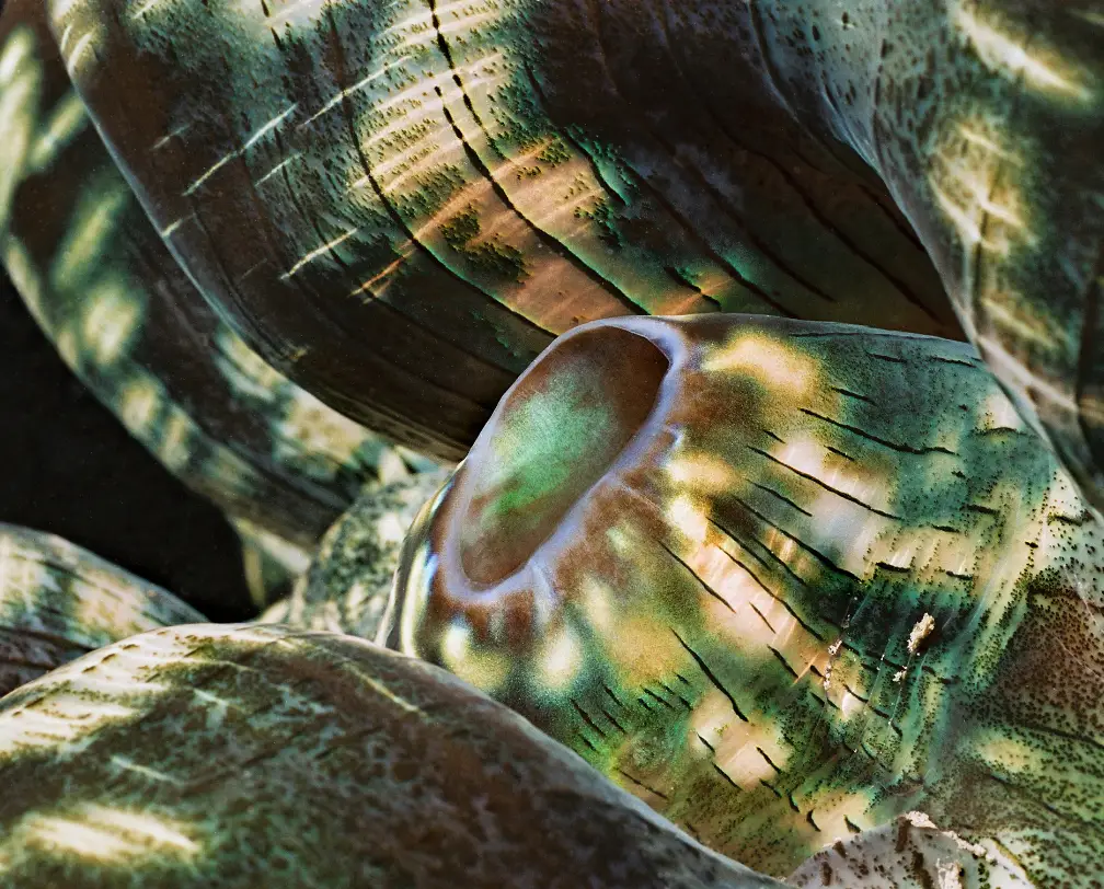
<path fill-rule="evenodd" d="M 0 701 L 21 887 L 752 889 L 574 753 L 361 640 L 181 626 Z"/>

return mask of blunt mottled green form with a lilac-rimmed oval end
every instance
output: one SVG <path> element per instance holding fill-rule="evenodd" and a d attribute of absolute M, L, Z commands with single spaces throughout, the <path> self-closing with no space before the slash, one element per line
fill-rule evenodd
<path fill-rule="evenodd" d="M 626 331 L 670 362 L 651 415 L 518 570 L 474 559 L 548 470 L 500 446 L 580 376 L 556 352 L 608 374 Z M 488 512 L 506 524 L 473 540 Z M 1104 866 L 1102 544 L 969 346 L 603 322 L 530 368 L 427 508 L 392 640 L 767 872 L 921 810 L 1074 886 Z"/>

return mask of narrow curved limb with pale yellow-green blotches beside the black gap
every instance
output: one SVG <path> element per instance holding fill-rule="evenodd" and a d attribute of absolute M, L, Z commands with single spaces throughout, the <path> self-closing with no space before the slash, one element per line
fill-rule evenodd
<path fill-rule="evenodd" d="M 403 458 L 266 365 L 188 279 L 70 84 L 36 0 L 0 19 L 0 249 L 65 363 L 170 471 L 310 548 Z"/>

